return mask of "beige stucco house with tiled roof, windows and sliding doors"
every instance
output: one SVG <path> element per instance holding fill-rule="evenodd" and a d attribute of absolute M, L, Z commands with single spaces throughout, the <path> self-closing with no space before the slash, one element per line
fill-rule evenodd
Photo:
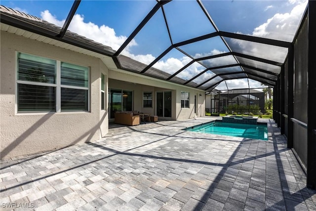
<path fill-rule="evenodd" d="M 85 48 L 45 37 L 4 22 L 60 28 L 4 6 L 0 12 L 1 159 L 98 140 L 116 111 L 167 120 L 205 115 L 205 91 L 118 69 L 110 56 L 86 49 L 113 53 L 108 46 L 71 32 L 68 41 Z"/>

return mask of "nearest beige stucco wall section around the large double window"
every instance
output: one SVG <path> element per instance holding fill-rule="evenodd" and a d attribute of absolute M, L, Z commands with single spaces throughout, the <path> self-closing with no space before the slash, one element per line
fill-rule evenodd
<path fill-rule="evenodd" d="M 96 140 L 101 131 L 107 133 L 107 111 L 100 112 L 100 75 L 107 76 L 108 70 L 100 59 L 3 31 L 0 43 L 1 159 Z M 90 67 L 90 112 L 16 114 L 16 51 Z"/>

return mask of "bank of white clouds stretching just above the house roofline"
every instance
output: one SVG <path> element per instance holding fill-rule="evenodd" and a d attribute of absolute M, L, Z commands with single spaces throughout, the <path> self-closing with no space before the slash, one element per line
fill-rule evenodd
<path fill-rule="evenodd" d="M 59 27 L 62 27 L 64 25 L 65 20 L 58 20 L 56 16 L 52 15 L 49 10 L 45 10 L 41 12 L 41 18 L 43 20 L 46 20 L 52 24 L 55 24 Z M 113 28 L 110 28 L 108 26 L 102 25 L 98 26 L 91 22 L 84 22 L 84 16 L 75 14 L 73 17 L 73 20 L 68 28 L 68 30 L 77 33 L 81 36 L 84 36 L 88 39 L 91 39 L 95 42 L 100 42 L 104 45 L 110 46 L 113 49 L 117 50 L 120 45 L 127 39 L 125 36 L 117 36 L 115 33 L 115 30 Z M 137 45 L 135 40 L 133 40 L 131 43 L 128 44 L 128 46 L 122 51 L 122 54 L 125 56 L 128 56 L 136 61 L 139 61 L 144 64 L 150 64 L 153 60 L 156 59 L 155 56 L 152 54 L 146 54 L 146 55 L 135 55 L 130 51 L 130 47 Z M 209 55 L 215 55 L 225 53 L 225 51 L 219 51 L 217 49 L 213 49 L 208 53 L 200 54 L 198 57 L 203 56 L 209 56 Z M 188 56 L 183 56 L 182 58 L 168 58 L 167 60 L 161 60 L 158 61 L 154 67 L 162 70 L 164 72 L 167 72 L 169 74 L 173 74 L 179 69 L 181 69 L 183 66 L 188 64 L 192 59 Z M 231 60 L 231 58 L 223 57 L 223 58 L 216 58 L 211 60 L 212 66 L 217 66 L 220 64 L 224 64 L 228 60 Z M 201 67 L 198 63 L 191 65 L 189 68 L 187 68 L 185 71 L 182 71 L 178 76 L 183 79 L 191 79 L 194 76 L 196 76 L 198 73 L 200 73 L 202 70 L 204 70 L 204 67 Z M 198 82 L 202 82 L 203 80 L 207 80 L 208 77 L 213 76 L 214 74 L 205 74 L 202 78 L 199 78 Z"/>

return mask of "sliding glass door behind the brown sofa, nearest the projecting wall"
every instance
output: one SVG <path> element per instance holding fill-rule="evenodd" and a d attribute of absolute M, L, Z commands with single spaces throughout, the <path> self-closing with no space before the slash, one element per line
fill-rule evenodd
<path fill-rule="evenodd" d="M 109 110 L 110 119 L 114 119 L 117 111 L 133 110 L 133 91 L 122 89 L 109 89 Z"/>

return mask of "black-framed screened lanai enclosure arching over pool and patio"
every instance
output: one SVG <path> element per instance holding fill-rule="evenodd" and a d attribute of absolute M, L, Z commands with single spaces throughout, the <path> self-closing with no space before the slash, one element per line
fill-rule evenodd
<path fill-rule="evenodd" d="M 1 23 L 110 56 L 122 70 L 214 93 L 213 106 L 218 99 L 214 112 L 225 111 L 226 106 L 249 114 L 251 104 L 264 112 L 260 90 L 273 89 L 273 118 L 306 170 L 307 186 L 316 188 L 316 1 L 106 0 L 94 6 L 88 0 L 75 0 L 42 4 L 54 4 L 59 13 L 67 12 L 61 20 L 43 15 L 52 23 L 47 28 L 35 24 L 37 20 L 13 17 L 10 5 L 5 5 L 8 12 L 1 12 Z M 104 30 L 115 20 L 112 27 L 119 42 L 76 27 L 80 18 L 89 22 L 96 14 L 96 24 Z M 262 24 L 257 26 L 259 19 Z M 74 38 L 73 33 L 78 36 Z M 81 36 L 93 41 L 87 43 Z M 235 111 L 234 104 L 246 107 Z"/>

